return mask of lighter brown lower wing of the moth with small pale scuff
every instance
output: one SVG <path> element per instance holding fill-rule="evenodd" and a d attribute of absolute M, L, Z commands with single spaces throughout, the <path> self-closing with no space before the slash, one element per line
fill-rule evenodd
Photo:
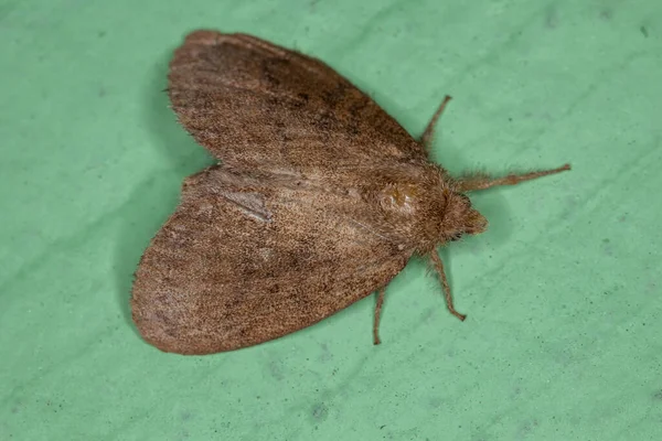
<path fill-rule="evenodd" d="M 407 251 L 370 228 L 365 204 L 322 192 L 218 165 L 186 179 L 136 272 L 131 305 L 143 338 L 180 354 L 236 349 L 385 286 Z"/>

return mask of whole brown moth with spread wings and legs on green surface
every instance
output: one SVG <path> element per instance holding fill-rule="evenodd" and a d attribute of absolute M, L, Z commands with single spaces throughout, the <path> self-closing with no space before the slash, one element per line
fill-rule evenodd
<path fill-rule="evenodd" d="M 384 289 L 413 256 L 463 320 L 437 247 L 485 230 L 465 193 L 569 170 L 451 178 L 428 159 L 449 97 L 417 140 L 321 61 L 245 34 L 188 35 L 168 93 L 222 164 L 184 180 L 136 271 L 134 321 L 164 352 L 267 342 L 375 291 L 378 344 Z"/>

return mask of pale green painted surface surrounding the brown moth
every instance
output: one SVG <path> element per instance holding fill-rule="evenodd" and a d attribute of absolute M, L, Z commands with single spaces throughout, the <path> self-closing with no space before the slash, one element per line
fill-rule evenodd
<path fill-rule="evenodd" d="M 0 440 L 662 440 L 662 2 L 0 1 Z M 175 3 L 175 2 L 171 2 Z M 288 337 L 145 344 L 128 298 L 182 179 L 167 62 L 196 28 L 319 56 L 452 171 L 574 170 L 476 198 L 491 229 Z"/>

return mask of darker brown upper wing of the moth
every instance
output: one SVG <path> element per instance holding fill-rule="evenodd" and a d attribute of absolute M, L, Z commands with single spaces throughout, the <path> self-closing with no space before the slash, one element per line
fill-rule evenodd
<path fill-rule="evenodd" d="M 180 122 L 234 168 L 426 159 L 395 119 L 331 67 L 255 36 L 189 34 L 171 61 L 168 90 Z"/>

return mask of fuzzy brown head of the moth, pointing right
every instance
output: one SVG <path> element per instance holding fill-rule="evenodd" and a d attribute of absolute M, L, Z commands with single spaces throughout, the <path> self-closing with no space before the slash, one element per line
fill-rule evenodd
<path fill-rule="evenodd" d="M 469 197 L 450 190 L 444 193 L 446 209 L 441 223 L 442 240 L 458 240 L 462 235 L 477 235 L 487 229 L 488 219 L 471 206 Z"/>

